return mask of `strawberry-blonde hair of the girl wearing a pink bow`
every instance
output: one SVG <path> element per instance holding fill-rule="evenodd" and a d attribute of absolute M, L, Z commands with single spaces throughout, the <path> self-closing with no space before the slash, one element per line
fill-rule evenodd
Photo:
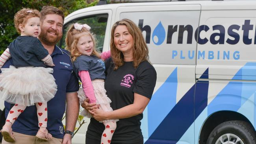
<path fill-rule="evenodd" d="M 70 26 L 69 30 L 67 31 L 66 39 L 65 39 L 65 42 L 67 45 L 65 50 L 68 50 L 70 52 L 72 61 L 76 61 L 77 57 L 82 55 L 81 52 L 79 52 L 79 50 L 77 48 L 77 43 L 78 43 L 78 40 L 80 39 L 80 37 L 83 37 L 85 35 L 89 35 L 93 41 L 94 49 L 93 49 L 92 55 L 95 55 L 96 57 L 98 57 L 100 59 L 100 54 L 95 49 L 95 47 L 96 47 L 95 35 L 91 31 L 88 31 L 86 28 L 82 28 L 82 30 L 76 30 L 74 28 L 74 24 L 72 24 Z"/>

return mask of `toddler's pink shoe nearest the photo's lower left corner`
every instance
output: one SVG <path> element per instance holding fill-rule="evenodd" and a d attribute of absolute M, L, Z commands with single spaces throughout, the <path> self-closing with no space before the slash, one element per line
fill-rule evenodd
<path fill-rule="evenodd" d="M 10 122 L 6 122 L 6 124 L 3 126 L 3 129 L 0 131 L 6 142 L 15 142 L 11 126 L 12 124 Z"/>

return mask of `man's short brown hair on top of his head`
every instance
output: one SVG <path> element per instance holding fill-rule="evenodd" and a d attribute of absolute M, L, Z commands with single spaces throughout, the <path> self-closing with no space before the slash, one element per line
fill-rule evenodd
<path fill-rule="evenodd" d="M 42 10 L 40 11 L 41 13 L 41 22 L 45 20 L 45 16 L 48 14 L 56 14 L 62 17 L 63 23 L 64 23 L 64 13 L 60 9 L 54 6 L 43 6 Z"/>

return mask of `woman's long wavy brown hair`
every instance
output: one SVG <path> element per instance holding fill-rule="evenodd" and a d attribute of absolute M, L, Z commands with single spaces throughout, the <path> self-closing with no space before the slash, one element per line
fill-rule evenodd
<path fill-rule="evenodd" d="M 111 57 L 113 59 L 113 63 L 115 64 L 114 70 L 117 70 L 120 66 L 124 65 L 124 55 L 121 51 L 119 51 L 114 42 L 114 34 L 115 29 L 117 26 L 126 26 L 129 33 L 132 35 L 133 38 L 133 66 L 137 68 L 139 64 L 143 61 L 148 61 L 148 47 L 143 38 L 141 30 L 136 26 L 132 20 L 129 19 L 122 19 L 113 25 L 111 29 L 111 40 L 110 40 L 110 52 Z"/>

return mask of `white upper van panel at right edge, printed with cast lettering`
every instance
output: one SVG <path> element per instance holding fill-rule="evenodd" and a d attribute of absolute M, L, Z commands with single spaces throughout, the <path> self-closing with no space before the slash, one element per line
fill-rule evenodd
<path fill-rule="evenodd" d="M 197 78 L 209 67 L 210 79 L 232 79 L 247 62 L 256 62 L 255 12 L 202 11 L 198 29 Z"/>

